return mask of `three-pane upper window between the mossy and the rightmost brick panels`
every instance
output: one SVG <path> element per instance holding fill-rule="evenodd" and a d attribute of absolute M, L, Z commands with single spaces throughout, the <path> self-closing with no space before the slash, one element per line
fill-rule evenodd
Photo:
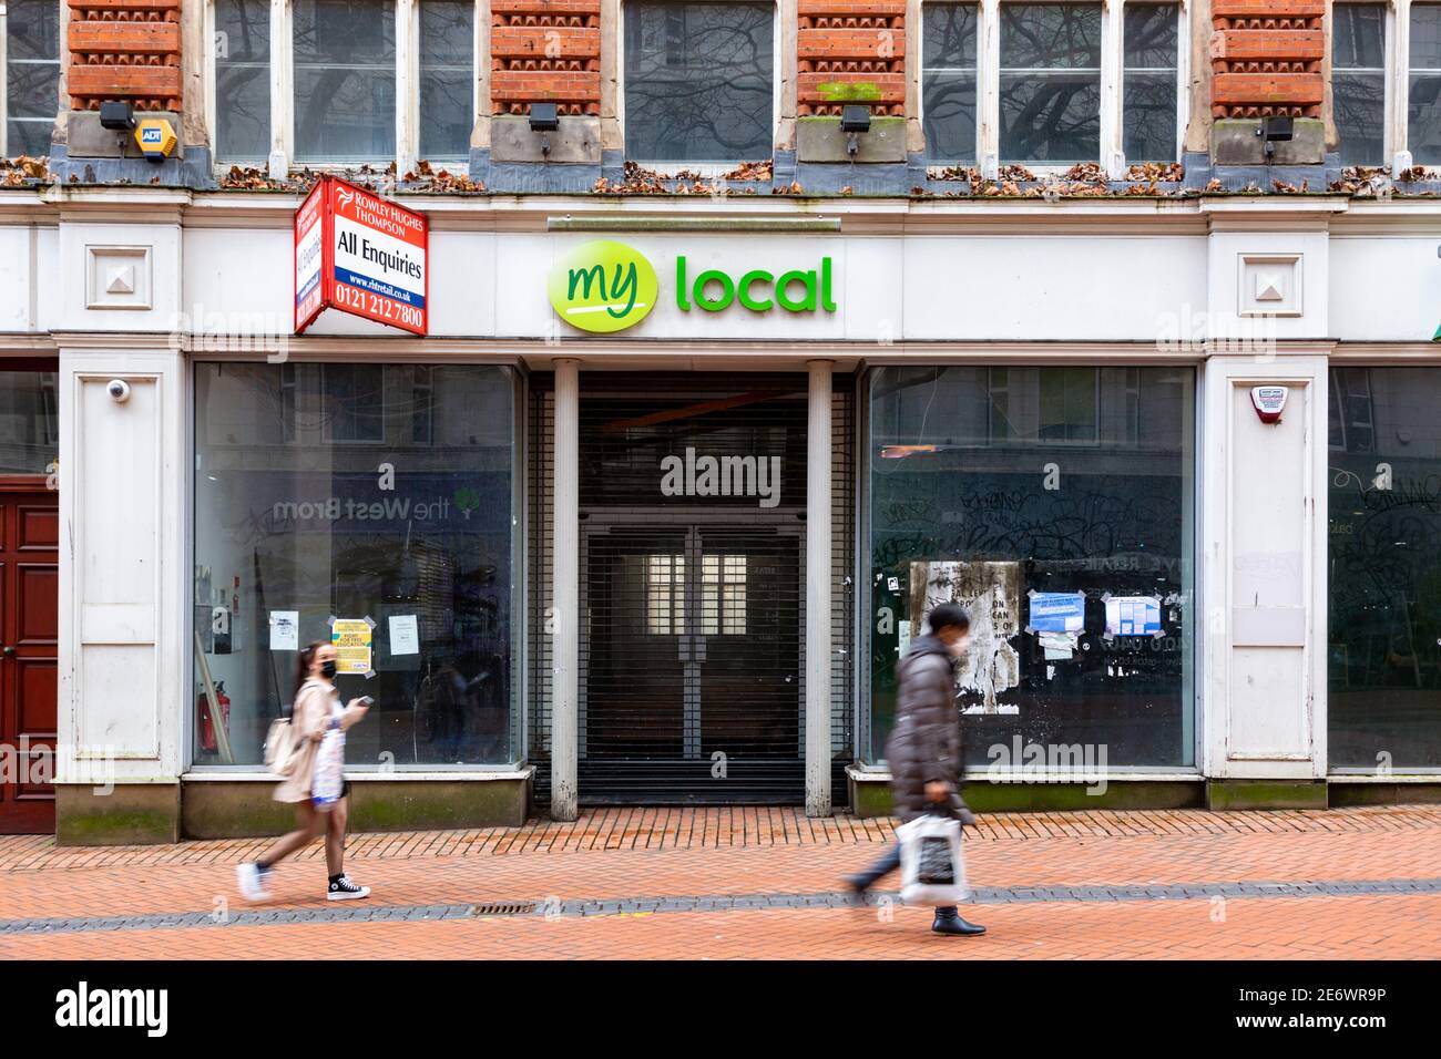
<path fill-rule="evenodd" d="M 1108 19 L 1121 20 L 1118 33 L 1107 30 Z M 922 6 L 921 22 L 931 161 L 1176 160 L 1182 4 L 938 1 Z M 1120 76 L 1102 78 L 1102 69 Z"/>

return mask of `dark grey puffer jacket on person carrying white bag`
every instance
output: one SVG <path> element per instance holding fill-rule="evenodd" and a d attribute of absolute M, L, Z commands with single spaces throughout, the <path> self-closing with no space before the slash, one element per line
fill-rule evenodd
<path fill-rule="evenodd" d="M 901 660 L 896 723 L 886 741 L 895 813 L 902 821 L 941 813 L 974 823 L 958 792 L 961 778 L 961 719 L 955 710 L 955 673 L 945 644 L 934 635 L 911 641 Z M 950 784 L 942 803 L 925 797 L 925 785 Z"/>

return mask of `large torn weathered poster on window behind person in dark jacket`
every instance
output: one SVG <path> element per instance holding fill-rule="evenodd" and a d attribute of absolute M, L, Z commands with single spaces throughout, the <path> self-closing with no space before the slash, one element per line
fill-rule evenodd
<path fill-rule="evenodd" d="M 963 712 L 1014 713 L 997 699 L 1020 683 L 1020 656 L 1010 643 L 1020 622 L 1020 563 L 911 563 L 912 624 L 941 604 L 960 604 L 971 615 L 971 643 L 955 666 L 955 687 L 981 702 Z"/>

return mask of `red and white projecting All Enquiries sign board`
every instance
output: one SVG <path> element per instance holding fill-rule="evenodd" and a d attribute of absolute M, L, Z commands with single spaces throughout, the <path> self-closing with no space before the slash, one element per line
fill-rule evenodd
<path fill-rule="evenodd" d="M 295 334 L 326 308 L 425 334 L 428 258 L 424 213 L 321 177 L 295 213 Z"/>

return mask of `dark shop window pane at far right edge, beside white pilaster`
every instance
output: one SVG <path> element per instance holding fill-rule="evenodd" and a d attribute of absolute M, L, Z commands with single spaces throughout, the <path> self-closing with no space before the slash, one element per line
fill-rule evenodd
<path fill-rule="evenodd" d="M 1330 373 L 1327 756 L 1441 768 L 1441 372 Z"/>

